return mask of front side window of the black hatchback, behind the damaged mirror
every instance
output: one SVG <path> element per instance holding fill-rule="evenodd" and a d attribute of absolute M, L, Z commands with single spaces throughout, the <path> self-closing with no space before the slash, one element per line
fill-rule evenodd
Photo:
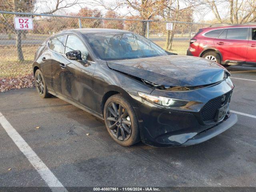
<path fill-rule="evenodd" d="M 82 41 L 74 35 L 69 35 L 66 42 L 65 54 L 67 52 L 77 51 L 77 50 L 81 52 L 82 60 L 92 60 L 89 56 L 88 50 L 86 49 Z"/>

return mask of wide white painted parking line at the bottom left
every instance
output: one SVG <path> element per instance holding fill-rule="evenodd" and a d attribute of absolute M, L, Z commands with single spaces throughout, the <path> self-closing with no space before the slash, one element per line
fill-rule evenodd
<path fill-rule="evenodd" d="M 26 141 L 18 134 L 12 125 L 6 120 L 0 112 L 0 124 L 14 141 L 20 151 L 26 156 L 32 166 L 37 170 L 52 192 L 68 192 L 61 182 L 54 176 L 50 169 L 42 162 L 36 153 L 30 148 Z"/>

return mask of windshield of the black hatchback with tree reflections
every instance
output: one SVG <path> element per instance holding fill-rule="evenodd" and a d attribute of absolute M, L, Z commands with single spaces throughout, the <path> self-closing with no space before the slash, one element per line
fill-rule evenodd
<path fill-rule="evenodd" d="M 94 33 L 85 36 L 91 48 L 102 60 L 124 60 L 167 55 L 162 48 L 134 33 Z"/>

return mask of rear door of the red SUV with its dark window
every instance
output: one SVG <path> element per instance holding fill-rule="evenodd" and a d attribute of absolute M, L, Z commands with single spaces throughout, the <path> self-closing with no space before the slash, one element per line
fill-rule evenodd
<path fill-rule="evenodd" d="M 222 54 L 222 61 L 246 61 L 249 28 L 227 28 L 218 38 L 214 46 Z"/>

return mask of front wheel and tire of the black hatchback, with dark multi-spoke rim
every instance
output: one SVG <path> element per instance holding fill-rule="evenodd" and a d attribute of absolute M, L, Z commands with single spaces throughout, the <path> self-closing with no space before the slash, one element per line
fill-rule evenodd
<path fill-rule="evenodd" d="M 113 103 L 116 106 L 115 108 Z M 120 108 L 120 106 L 122 107 Z M 104 122 L 108 133 L 118 144 L 132 146 L 140 141 L 138 118 L 134 108 L 122 94 L 113 95 L 106 101 L 104 105 Z"/>

